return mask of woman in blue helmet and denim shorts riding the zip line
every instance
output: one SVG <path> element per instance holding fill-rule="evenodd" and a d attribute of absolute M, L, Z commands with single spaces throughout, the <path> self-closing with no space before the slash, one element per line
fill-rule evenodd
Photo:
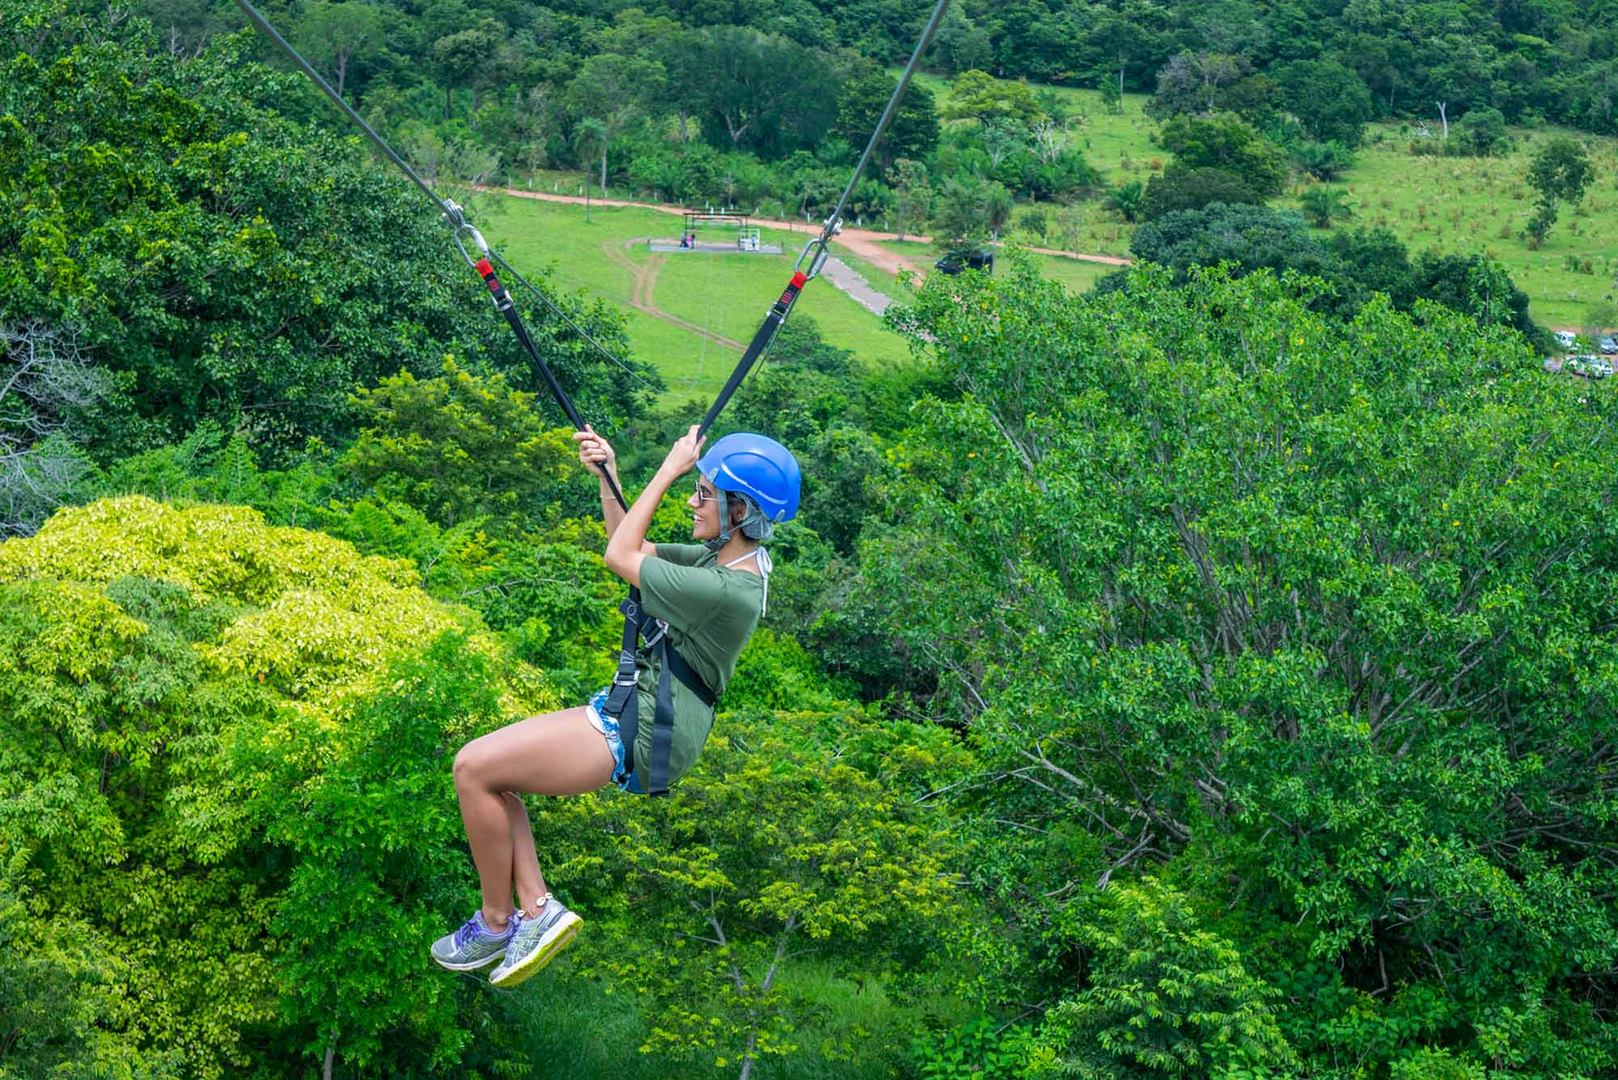
<path fill-rule="evenodd" d="M 612 445 L 586 426 L 574 432 L 579 461 L 602 474 L 607 568 L 641 589 L 650 619 L 668 623 L 668 646 L 694 672 L 707 695 L 673 680 L 673 738 L 667 745 L 670 782 L 694 763 L 714 725 L 712 699 L 725 691 L 736 657 L 759 625 L 769 591 L 770 557 L 759 546 L 777 521 L 798 513 L 798 461 L 764 436 L 725 436 L 702 453 L 691 427 L 634 505 L 625 512 L 607 483 L 618 481 Z M 647 544 L 652 513 L 676 479 L 699 471 L 686 499 L 691 536 L 701 544 Z M 641 763 L 652 758 L 652 716 L 663 651 L 641 648 L 636 657 L 639 724 L 626 767 L 618 719 L 605 708 L 607 690 L 582 708 L 547 712 L 490 732 L 455 756 L 455 790 L 471 842 L 484 904 L 453 934 L 432 946 L 432 959 L 451 972 L 498 962 L 495 986 L 515 986 L 552 960 L 582 920 L 557 900 L 539 873 L 534 834 L 523 793 L 579 795 L 608 780 L 639 790 Z M 628 685 L 628 683 L 626 683 Z M 513 902 L 515 900 L 515 902 Z"/>

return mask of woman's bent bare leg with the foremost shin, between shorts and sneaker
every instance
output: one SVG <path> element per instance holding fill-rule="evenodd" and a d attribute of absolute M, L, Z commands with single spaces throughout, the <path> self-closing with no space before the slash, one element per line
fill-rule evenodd
<path fill-rule="evenodd" d="M 508 724 L 474 738 L 455 755 L 455 790 L 461 798 L 461 821 L 484 892 L 484 921 L 490 929 L 503 929 L 513 910 L 518 860 L 513 858 L 513 824 L 505 792 L 581 795 L 607 784 L 612 769 L 607 740 L 584 716 L 582 706 Z M 526 813 L 523 821 L 526 824 Z M 527 845 L 532 852 L 532 834 Z M 537 878 L 539 858 L 532 860 Z"/>

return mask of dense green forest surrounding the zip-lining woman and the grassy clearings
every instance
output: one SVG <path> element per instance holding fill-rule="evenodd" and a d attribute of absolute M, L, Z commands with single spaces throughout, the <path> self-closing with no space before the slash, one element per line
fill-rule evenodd
<path fill-rule="evenodd" d="M 560 175 L 817 220 L 924 6 L 264 11 L 490 220 Z M 0 1078 L 1618 1074 L 1612 382 L 1484 246 L 1281 204 L 1521 141 L 1463 228 L 1563 259 L 1618 6 L 956 3 L 849 215 L 1082 207 L 1133 264 L 895 287 L 903 359 L 786 322 L 714 432 L 803 465 L 765 620 L 671 797 L 529 798 L 586 929 L 508 993 L 427 946 L 456 750 L 615 670 L 566 418 L 233 6 L 0 0 Z M 707 402 L 523 272 L 637 489 Z"/>

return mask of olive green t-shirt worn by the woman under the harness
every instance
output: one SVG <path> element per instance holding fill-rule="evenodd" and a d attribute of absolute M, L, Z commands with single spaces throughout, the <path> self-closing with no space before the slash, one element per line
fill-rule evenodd
<path fill-rule="evenodd" d="M 641 606 L 652 619 L 668 623 L 668 644 L 718 696 L 736 674 L 736 657 L 759 625 L 764 578 L 720 567 L 702 544 L 659 544 L 657 555 L 641 563 Z M 657 709 L 657 651 L 642 646 L 636 665 L 641 669 L 641 727 L 634 738 L 634 759 L 647 763 Z M 702 698 L 678 678 L 671 680 L 671 688 L 675 738 L 668 751 L 670 784 L 696 764 L 714 727 L 714 709 Z"/>

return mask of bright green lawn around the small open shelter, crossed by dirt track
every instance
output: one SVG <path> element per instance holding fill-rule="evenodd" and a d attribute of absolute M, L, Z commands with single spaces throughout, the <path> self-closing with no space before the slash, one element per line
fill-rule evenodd
<path fill-rule="evenodd" d="M 644 238 L 676 238 L 678 217 L 639 207 L 594 206 L 586 220 L 582 206 L 510 196 L 485 199 L 481 209 L 484 233 L 502 246 L 515 267 L 524 274 L 549 269 L 555 287 L 578 290 L 623 311 L 633 355 L 650 359 L 662 371 L 673 398 L 712 397 L 739 351 L 633 309 L 634 272 L 620 266 L 613 254 L 637 267 L 660 262 L 652 291 L 657 308 L 710 334 L 748 342 L 791 277 L 798 249 L 807 238 L 804 232 L 764 230 L 765 243 L 783 246 L 780 256 L 654 254 Z M 814 282 L 803 291 L 796 314 L 812 317 L 828 342 L 853 350 L 867 363 L 908 356 L 898 335 L 827 282 Z"/>

